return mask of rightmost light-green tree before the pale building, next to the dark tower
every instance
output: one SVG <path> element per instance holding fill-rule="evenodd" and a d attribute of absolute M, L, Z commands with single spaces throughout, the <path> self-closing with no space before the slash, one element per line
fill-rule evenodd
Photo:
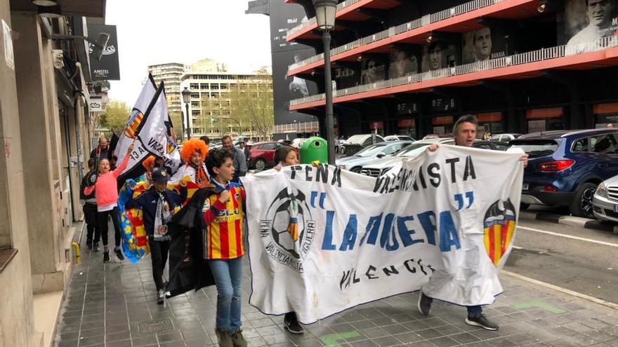
<path fill-rule="evenodd" d="M 258 70 L 253 79 L 236 83 L 230 89 L 230 121 L 239 128 L 247 123 L 259 137 L 272 135 L 275 113 L 272 104 L 272 76 L 265 68 Z"/>

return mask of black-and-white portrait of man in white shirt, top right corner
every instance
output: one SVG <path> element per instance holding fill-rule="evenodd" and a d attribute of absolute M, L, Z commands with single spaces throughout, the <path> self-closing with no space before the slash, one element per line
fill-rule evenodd
<path fill-rule="evenodd" d="M 579 45 L 614 36 L 618 31 L 618 0 L 565 0 L 558 18 L 558 44 Z"/>

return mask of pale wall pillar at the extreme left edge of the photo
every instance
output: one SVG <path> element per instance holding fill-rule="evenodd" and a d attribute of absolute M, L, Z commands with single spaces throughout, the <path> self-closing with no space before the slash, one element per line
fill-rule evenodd
<path fill-rule="evenodd" d="M 18 89 L 11 57 L 18 46 L 29 42 L 11 39 L 11 12 L 8 1 L 0 1 L 0 252 L 7 248 L 17 254 L 0 271 L 0 346 L 42 346 L 42 334 L 34 331 L 32 279 L 27 230 L 24 171 Z M 8 28 L 8 30 L 6 29 Z M 13 46 L 13 48 L 11 48 Z"/>

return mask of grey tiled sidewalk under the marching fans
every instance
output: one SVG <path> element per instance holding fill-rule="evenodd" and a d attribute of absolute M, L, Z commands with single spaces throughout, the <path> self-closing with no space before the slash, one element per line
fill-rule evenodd
<path fill-rule="evenodd" d="M 113 255 L 112 255 L 113 257 Z M 284 331 L 282 317 L 246 304 L 249 264 L 244 267 L 243 334 L 258 346 L 604 346 L 618 347 L 618 312 L 520 280 L 503 277 L 504 294 L 485 309 L 497 332 L 463 322 L 466 309 L 435 302 L 428 317 L 416 311 L 417 294 L 357 306 L 305 327 Z M 103 264 L 103 253 L 84 252 L 76 266 L 55 336 L 61 347 L 216 346 L 216 290 L 209 287 L 155 302 L 150 259 Z M 157 324 L 150 324 L 157 323 Z M 171 324 L 170 324 L 171 323 Z M 158 332 L 156 332 L 158 331 Z"/>

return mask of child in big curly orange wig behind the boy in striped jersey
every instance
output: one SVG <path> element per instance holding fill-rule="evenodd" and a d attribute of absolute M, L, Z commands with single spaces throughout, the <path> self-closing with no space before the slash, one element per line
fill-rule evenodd
<path fill-rule="evenodd" d="M 185 177 L 190 177 L 192 182 L 200 186 L 206 186 L 210 182 L 204 158 L 208 155 L 208 146 L 199 139 L 190 139 L 183 142 L 180 149 L 180 156 L 183 157 L 185 165 L 180 166 L 176 174 L 173 175 L 169 184 L 176 184 Z"/>

